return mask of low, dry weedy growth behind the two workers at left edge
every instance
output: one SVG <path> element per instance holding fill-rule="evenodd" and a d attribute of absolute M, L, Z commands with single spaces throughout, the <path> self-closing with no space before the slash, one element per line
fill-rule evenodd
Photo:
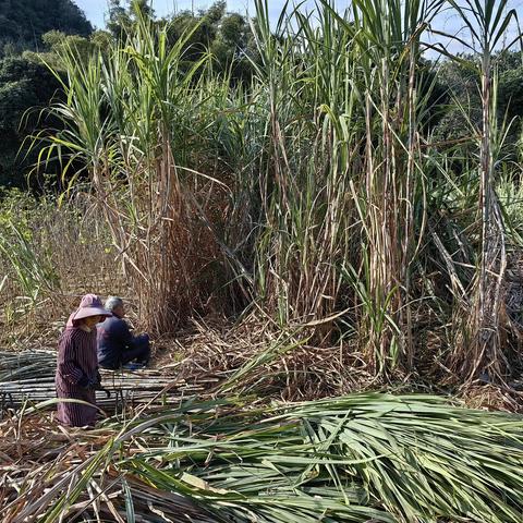
<path fill-rule="evenodd" d="M 81 187 L 60 204 L 51 195 L 2 191 L 0 344 L 20 346 L 50 331 L 54 340 L 54 323 L 62 325 L 88 290 L 129 295 L 113 257 L 104 216 Z"/>

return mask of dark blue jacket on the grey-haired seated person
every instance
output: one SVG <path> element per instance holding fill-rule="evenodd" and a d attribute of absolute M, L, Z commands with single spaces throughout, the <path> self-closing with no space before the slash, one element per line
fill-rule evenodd
<path fill-rule="evenodd" d="M 134 337 L 127 323 L 112 316 L 98 324 L 97 330 L 98 363 L 106 368 L 118 368 L 123 353 L 134 346 Z"/>

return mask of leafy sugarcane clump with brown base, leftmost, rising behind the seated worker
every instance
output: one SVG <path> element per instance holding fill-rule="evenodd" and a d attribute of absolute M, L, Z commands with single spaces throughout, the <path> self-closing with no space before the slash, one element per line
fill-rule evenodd
<path fill-rule="evenodd" d="M 206 98 L 198 74 L 208 57 L 186 66 L 191 34 L 169 48 L 167 28 L 141 15 L 108 57 L 82 63 L 64 52 L 68 101 L 51 111 L 65 131 L 46 136 L 48 155 L 64 158 L 68 148 L 68 165 L 86 166 L 142 317 L 156 332 L 172 330 L 197 307 L 204 284 L 196 280 L 218 255 L 193 202 L 194 193 L 211 195 L 216 182 L 196 180 L 197 139 L 206 142 L 209 123 L 198 112 Z"/>

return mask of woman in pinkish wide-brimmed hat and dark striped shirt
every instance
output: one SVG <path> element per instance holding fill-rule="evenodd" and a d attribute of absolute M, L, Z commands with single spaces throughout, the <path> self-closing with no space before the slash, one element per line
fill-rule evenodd
<path fill-rule="evenodd" d="M 57 397 L 90 403 L 59 402 L 58 422 L 70 427 L 95 426 L 100 375 L 96 356 L 96 324 L 112 316 L 95 294 L 86 294 L 71 314 L 58 342 Z"/>

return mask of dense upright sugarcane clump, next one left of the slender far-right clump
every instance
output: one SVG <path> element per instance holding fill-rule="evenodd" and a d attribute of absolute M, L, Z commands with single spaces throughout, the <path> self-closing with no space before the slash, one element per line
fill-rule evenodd
<path fill-rule="evenodd" d="M 355 59 L 363 64 L 365 121 L 364 206 L 358 206 L 365 262 L 354 278 L 365 275 L 365 290 L 358 291 L 366 304 L 361 316 L 365 350 L 376 370 L 386 375 L 410 369 L 414 362 L 411 267 L 425 222 L 418 139 L 424 100 L 417 95 L 417 69 L 421 35 L 439 7 L 437 1 L 358 1 L 353 22 L 345 22 L 354 35 Z"/>

